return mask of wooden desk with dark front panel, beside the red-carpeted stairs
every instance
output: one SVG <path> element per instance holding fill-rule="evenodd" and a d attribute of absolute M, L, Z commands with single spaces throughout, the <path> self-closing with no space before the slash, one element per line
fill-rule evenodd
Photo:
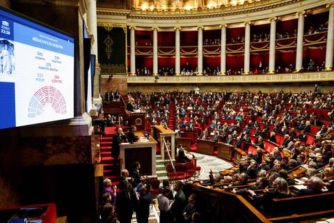
<path fill-rule="evenodd" d="M 143 132 L 135 132 L 136 136 L 144 137 Z M 123 167 L 131 173 L 133 171 L 134 162 L 141 163 L 141 175 L 157 176 L 156 174 L 156 145 L 157 141 L 150 137 L 149 141 L 138 141 L 134 144 L 120 144 L 120 158 Z"/>

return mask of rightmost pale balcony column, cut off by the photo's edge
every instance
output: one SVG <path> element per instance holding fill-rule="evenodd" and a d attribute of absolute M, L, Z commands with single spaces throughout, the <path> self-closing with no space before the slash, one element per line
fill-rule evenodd
<path fill-rule="evenodd" d="M 325 70 L 333 70 L 333 54 L 334 54 L 334 3 L 328 4 L 328 30 L 327 30 L 327 45 L 326 45 L 326 62 Z"/>

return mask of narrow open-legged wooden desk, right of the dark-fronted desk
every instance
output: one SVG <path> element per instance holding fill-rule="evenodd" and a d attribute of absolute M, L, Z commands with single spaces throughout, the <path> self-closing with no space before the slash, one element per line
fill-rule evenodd
<path fill-rule="evenodd" d="M 170 151 L 172 152 L 171 158 L 172 161 L 175 160 L 175 132 L 170 130 L 169 128 L 164 128 L 162 125 L 151 125 L 151 135 L 154 139 L 157 140 L 158 144 L 160 145 L 161 157 L 162 160 L 169 159 L 167 151 L 165 151 L 165 144 L 170 144 Z"/>

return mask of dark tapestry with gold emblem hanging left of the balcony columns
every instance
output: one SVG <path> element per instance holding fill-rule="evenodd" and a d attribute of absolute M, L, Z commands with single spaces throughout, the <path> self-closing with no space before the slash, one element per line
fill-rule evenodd
<path fill-rule="evenodd" d="M 123 27 L 97 26 L 97 46 L 101 75 L 124 75 L 125 29 Z"/>

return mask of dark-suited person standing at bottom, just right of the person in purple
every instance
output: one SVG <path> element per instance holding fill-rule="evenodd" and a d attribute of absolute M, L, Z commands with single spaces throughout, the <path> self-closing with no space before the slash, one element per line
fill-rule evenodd
<path fill-rule="evenodd" d="M 120 223 L 131 223 L 134 208 L 136 209 L 137 206 L 138 199 L 132 190 L 132 185 L 125 183 L 116 198 L 116 212 Z"/>

